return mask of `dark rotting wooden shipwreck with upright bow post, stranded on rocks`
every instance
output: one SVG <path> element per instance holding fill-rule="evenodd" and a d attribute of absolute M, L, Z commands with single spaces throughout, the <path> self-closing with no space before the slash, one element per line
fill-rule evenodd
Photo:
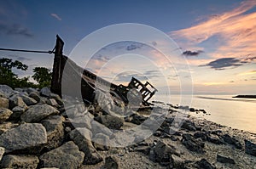
<path fill-rule="evenodd" d="M 124 104 L 133 104 L 135 106 L 148 107 L 151 104 L 149 99 L 154 96 L 154 93 L 157 92 L 157 89 L 150 82 L 140 82 L 135 77 L 131 77 L 131 82 L 124 86 L 122 84 L 113 84 L 106 81 L 102 77 L 96 76 L 96 74 L 90 72 L 77 65 L 73 60 L 68 59 L 67 56 L 62 54 L 64 42 L 61 40 L 61 37 L 56 36 L 56 43 L 54 49 L 54 65 L 53 65 L 53 74 L 51 81 L 51 91 L 57 93 L 60 96 L 62 94 L 67 94 L 70 96 L 76 96 L 77 94 L 82 95 L 84 102 L 93 103 L 96 97 L 95 91 L 101 90 L 104 93 L 110 94 L 113 99 L 119 100 Z M 65 73 L 63 70 L 65 68 Z M 73 82 L 80 81 L 81 90 L 73 87 Z M 69 85 L 63 87 L 62 82 L 66 82 Z M 100 83 L 101 85 L 96 85 Z M 75 85 L 74 85 L 75 86 Z M 109 88 L 106 91 L 106 87 Z M 65 93 L 61 93 L 61 91 Z"/>

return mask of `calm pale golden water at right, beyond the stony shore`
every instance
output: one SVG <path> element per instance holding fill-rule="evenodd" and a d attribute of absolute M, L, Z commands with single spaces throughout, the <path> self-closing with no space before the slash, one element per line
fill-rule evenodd
<path fill-rule="evenodd" d="M 234 99 L 230 95 L 171 95 L 171 99 L 160 95 L 157 99 L 171 104 L 191 103 L 189 107 L 211 114 L 203 115 L 207 120 L 256 133 L 256 99 Z"/>

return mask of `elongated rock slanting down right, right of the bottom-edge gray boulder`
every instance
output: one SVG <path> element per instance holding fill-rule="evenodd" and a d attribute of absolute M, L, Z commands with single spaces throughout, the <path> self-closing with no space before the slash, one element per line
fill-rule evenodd
<path fill-rule="evenodd" d="M 103 160 L 88 139 L 91 137 L 91 132 L 87 128 L 76 128 L 69 135 L 79 149 L 84 152 L 84 164 L 94 165 Z"/>

